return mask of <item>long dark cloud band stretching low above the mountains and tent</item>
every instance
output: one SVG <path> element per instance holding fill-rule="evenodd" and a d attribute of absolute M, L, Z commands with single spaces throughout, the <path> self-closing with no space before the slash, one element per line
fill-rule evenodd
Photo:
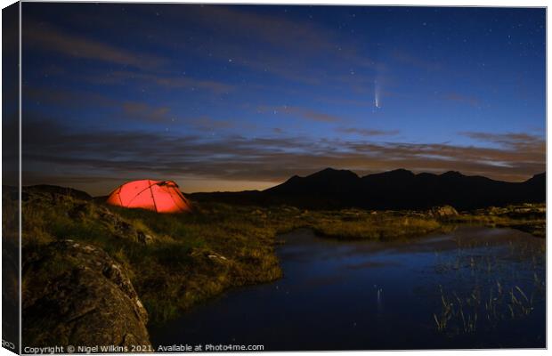
<path fill-rule="evenodd" d="M 530 134 L 511 138 L 514 145 L 499 148 L 443 143 L 356 142 L 306 137 L 245 138 L 226 135 L 178 136 L 128 131 L 74 132 L 52 121 L 23 121 L 23 159 L 40 180 L 39 166 L 66 177 L 87 172 L 102 176 L 195 176 L 217 180 L 281 182 L 293 174 L 309 174 L 322 167 L 359 173 L 398 167 L 417 172 L 459 170 L 491 178 L 523 181 L 546 169 L 542 141 Z M 479 135 L 477 135 L 479 137 Z M 487 136 L 485 136 L 487 137 Z M 491 139 L 497 137 L 490 136 Z M 501 141 L 501 138 L 498 137 Z M 526 139 L 526 140 L 525 140 Z M 64 182 L 50 182 L 64 184 Z"/>

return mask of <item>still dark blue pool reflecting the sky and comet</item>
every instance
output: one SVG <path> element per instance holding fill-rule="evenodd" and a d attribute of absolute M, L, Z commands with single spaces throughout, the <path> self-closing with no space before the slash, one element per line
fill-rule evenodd
<path fill-rule="evenodd" d="M 545 240 L 460 227 L 418 239 L 280 236 L 283 279 L 150 330 L 153 344 L 265 351 L 545 347 Z"/>

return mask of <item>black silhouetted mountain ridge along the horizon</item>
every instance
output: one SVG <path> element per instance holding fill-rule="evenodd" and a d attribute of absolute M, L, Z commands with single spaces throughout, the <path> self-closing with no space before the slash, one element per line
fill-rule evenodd
<path fill-rule="evenodd" d="M 359 177 L 326 168 L 267 190 L 194 193 L 191 198 L 231 204 L 291 205 L 305 208 L 363 207 L 425 209 L 451 205 L 459 209 L 536 203 L 546 200 L 546 174 L 525 182 L 501 182 L 459 172 L 414 174 L 405 169 Z"/>

